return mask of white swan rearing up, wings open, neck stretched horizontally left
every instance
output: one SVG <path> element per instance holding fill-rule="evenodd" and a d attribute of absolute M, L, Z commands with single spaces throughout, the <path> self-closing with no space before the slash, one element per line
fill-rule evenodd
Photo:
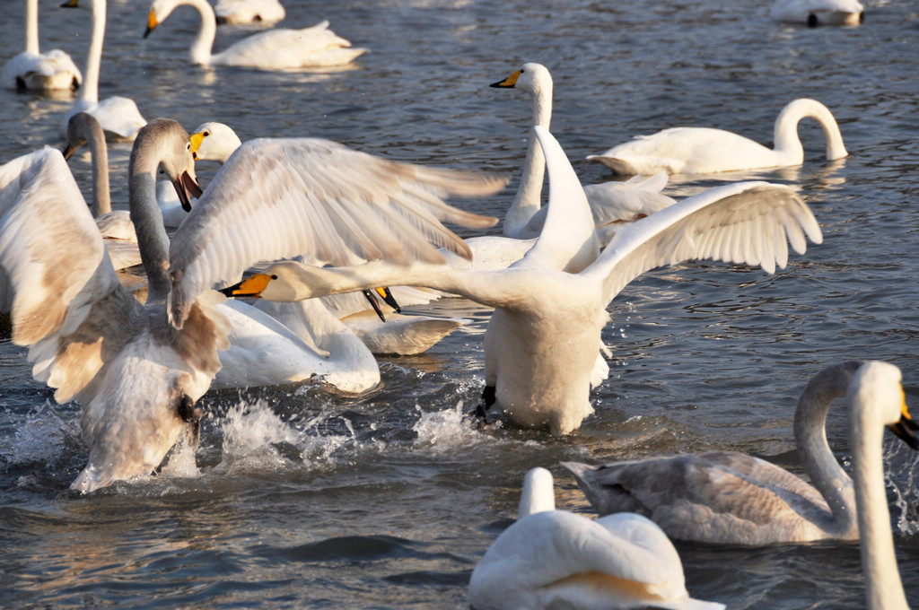
<path fill-rule="evenodd" d="M 810 209 L 787 186 L 762 182 L 713 188 L 628 225 L 602 254 L 584 191 L 562 147 L 533 128 L 549 168 L 549 214 L 539 240 L 496 271 L 449 265 L 320 268 L 283 262 L 224 288 L 227 296 L 292 301 L 399 283 L 444 290 L 494 307 L 485 333 L 485 404 L 525 427 L 565 435 L 593 412 L 590 390 L 607 377 L 600 355 L 607 304 L 631 279 L 690 258 L 761 265 L 773 272 L 806 233 L 822 235 Z"/>

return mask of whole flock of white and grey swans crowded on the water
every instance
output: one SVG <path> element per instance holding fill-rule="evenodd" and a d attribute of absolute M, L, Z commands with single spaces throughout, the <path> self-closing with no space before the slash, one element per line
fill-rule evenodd
<path fill-rule="evenodd" d="M 200 18 L 191 63 L 330 68 L 354 66 L 366 51 L 327 21 L 268 27 L 212 51 L 218 24 L 284 19 L 273 0 L 154 0 L 144 36 L 183 5 Z M 217 122 L 189 135 L 175 120 L 148 121 L 128 97 L 99 100 L 106 0 L 63 6 L 92 16 L 84 71 L 62 51 L 40 53 L 36 0 L 26 0 L 26 50 L 4 68 L 8 88 L 76 99 L 62 117 L 62 147 L 2 160 L 0 304 L 34 377 L 56 401 L 83 409 L 87 463 L 72 484 L 81 493 L 142 480 L 176 444 L 194 446 L 197 402 L 212 388 L 321 377 L 364 392 L 380 382 L 374 354 L 422 352 L 461 324 L 370 312 L 367 299 L 383 286 L 403 304 L 463 297 L 494 308 L 482 404 L 471 417 L 569 435 L 594 411 L 591 390 L 609 373 L 607 308 L 631 280 L 704 259 L 774 273 L 788 265 L 789 247 L 803 255 L 823 241 L 789 186 L 732 182 L 677 201 L 662 193 L 668 176 L 800 165 L 804 118 L 823 128 L 827 160 L 848 154 L 832 111 L 798 98 L 777 109 L 774 148 L 727 130 L 674 127 L 589 155 L 634 177 L 583 186 L 550 131 L 550 71 L 528 62 L 492 85 L 532 100 L 503 235 L 461 239 L 444 223 L 482 232 L 497 220 L 446 200 L 494 196 L 507 176 L 395 163 L 305 135 L 241 141 Z M 854 1 L 779 0 L 770 15 L 854 26 L 864 12 Z M 133 141 L 123 175 L 109 176 L 107 140 Z M 67 166 L 82 145 L 94 167 L 90 205 Z M 198 162 L 221 164 L 203 187 Z M 110 179 L 127 183 L 126 206 L 113 209 Z M 261 270 L 250 273 L 254 265 Z M 824 430 L 836 398 L 845 401 L 851 476 Z M 470 603 L 720 608 L 686 591 L 671 538 L 750 546 L 833 538 L 860 539 L 868 607 L 906 607 L 883 488 L 885 428 L 919 449 L 899 368 L 852 361 L 829 365 L 801 393 L 794 433 L 810 483 L 727 451 L 565 462 L 596 510 L 589 518 L 556 510 L 550 472 L 532 469 L 516 523 L 472 572 Z"/>

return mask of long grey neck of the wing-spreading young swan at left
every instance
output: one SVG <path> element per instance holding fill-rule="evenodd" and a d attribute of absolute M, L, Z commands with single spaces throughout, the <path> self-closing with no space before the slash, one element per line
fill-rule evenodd
<path fill-rule="evenodd" d="M 159 155 L 144 146 L 145 139 L 134 142 L 130 153 L 128 191 L 130 220 L 137 231 L 143 270 L 149 285 L 147 302 L 161 301 L 169 294 L 169 236 L 163 226 L 163 213 L 156 203 L 156 171 Z"/>

